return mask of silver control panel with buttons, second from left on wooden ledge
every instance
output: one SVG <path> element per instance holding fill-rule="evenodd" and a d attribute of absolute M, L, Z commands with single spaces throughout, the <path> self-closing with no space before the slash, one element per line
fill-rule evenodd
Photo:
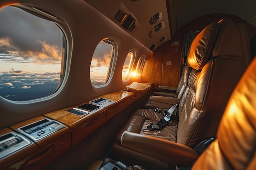
<path fill-rule="evenodd" d="M 38 141 L 64 127 L 65 125 L 60 122 L 46 118 L 18 128 L 18 130 L 30 139 Z"/>

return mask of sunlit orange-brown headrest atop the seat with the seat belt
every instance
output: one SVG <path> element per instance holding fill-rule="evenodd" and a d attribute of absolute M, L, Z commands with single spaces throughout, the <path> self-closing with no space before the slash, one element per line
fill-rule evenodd
<path fill-rule="evenodd" d="M 187 55 L 187 64 L 190 67 L 196 70 L 203 68 L 204 64 L 211 57 L 219 30 L 220 24 L 213 22 L 195 37 Z"/>

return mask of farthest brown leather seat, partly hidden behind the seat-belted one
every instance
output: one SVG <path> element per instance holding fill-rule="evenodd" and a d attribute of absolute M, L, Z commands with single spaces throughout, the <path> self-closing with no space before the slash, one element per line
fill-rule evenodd
<path fill-rule="evenodd" d="M 144 108 L 170 108 L 175 105 L 182 97 L 189 80 L 191 67 L 187 64 L 184 65 L 182 76 L 180 77 L 179 84 L 177 86 L 176 94 L 174 93 L 163 93 L 153 92 L 149 99 L 144 104 Z M 173 95 L 171 95 L 173 94 Z"/>

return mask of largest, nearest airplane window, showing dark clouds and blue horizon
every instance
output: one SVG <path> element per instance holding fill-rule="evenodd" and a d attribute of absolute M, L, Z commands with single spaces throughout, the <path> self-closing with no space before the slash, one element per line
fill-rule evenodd
<path fill-rule="evenodd" d="M 64 73 L 61 29 L 17 7 L 0 9 L 0 23 L 0 96 L 27 101 L 54 93 Z"/>

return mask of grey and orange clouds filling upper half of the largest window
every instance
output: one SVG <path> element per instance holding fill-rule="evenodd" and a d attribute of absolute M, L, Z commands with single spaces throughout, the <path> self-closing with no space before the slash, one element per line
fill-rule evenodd
<path fill-rule="evenodd" d="M 8 56 L 3 59 L 37 64 L 61 61 L 62 33 L 56 24 L 16 7 L 2 8 L 0 23 L 0 56 Z"/>

